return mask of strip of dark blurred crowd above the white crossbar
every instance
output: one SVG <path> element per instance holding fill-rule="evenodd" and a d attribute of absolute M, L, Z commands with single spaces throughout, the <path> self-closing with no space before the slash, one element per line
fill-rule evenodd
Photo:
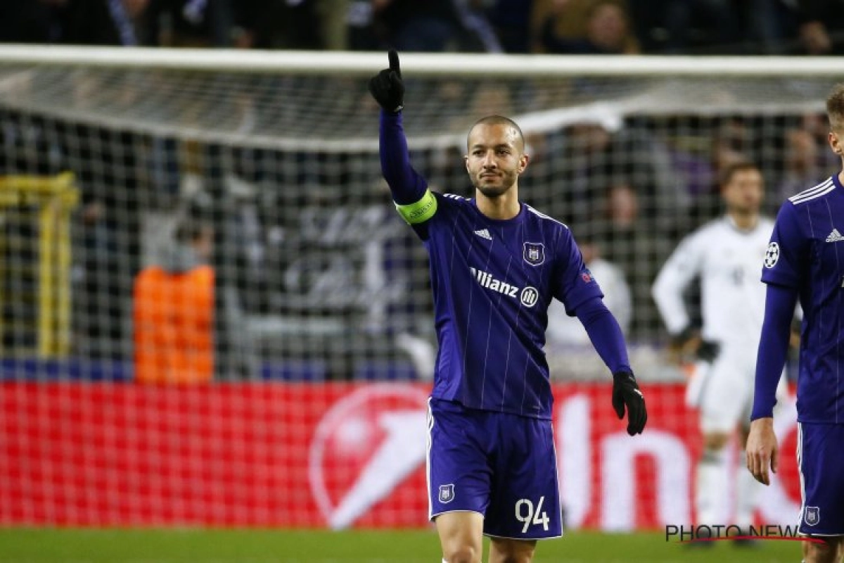
<path fill-rule="evenodd" d="M 30 0 L 0 42 L 572 54 L 844 54 L 844 0 Z"/>

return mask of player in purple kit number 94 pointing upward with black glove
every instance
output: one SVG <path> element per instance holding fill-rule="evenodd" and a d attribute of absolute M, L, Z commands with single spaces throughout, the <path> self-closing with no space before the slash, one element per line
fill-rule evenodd
<path fill-rule="evenodd" d="M 618 323 L 568 227 L 518 199 L 527 167 L 516 123 L 488 116 L 468 133 L 475 198 L 431 192 L 410 165 L 398 54 L 371 78 L 381 106 L 381 171 L 398 213 L 424 242 L 434 294 L 436 357 L 428 410 L 429 516 L 443 560 L 533 560 L 536 541 L 562 533 L 544 356 L 552 298 L 586 328 L 613 373 L 612 403 L 641 433 L 645 400 Z"/>

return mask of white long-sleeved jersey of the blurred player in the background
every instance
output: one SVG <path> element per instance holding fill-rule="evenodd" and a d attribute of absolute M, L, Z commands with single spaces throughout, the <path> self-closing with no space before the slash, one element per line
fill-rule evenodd
<path fill-rule="evenodd" d="M 765 316 L 766 286 L 760 281 L 771 219 L 740 230 L 729 216 L 716 219 L 684 238 L 668 257 L 652 287 L 668 332 L 690 323 L 683 301 L 693 279 L 701 279 L 701 336 L 723 345 L 746 347 L 755 355 Z"/>

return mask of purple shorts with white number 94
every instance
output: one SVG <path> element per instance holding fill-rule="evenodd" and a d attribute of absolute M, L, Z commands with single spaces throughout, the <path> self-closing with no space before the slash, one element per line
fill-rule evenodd
<path fill-rule="evenodd" d="M 562 535 L 557 456 L 550 420 L 428 406 L 429 517 L 484 515 L 484 534 L 545 539 Z"/>

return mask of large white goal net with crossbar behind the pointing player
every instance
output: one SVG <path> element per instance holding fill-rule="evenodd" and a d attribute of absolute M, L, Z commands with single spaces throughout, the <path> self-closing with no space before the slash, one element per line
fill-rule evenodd
<path fill-rule="evenodd" d="M 425 250 L 381 179 L 366 80 L 386 62 L 0 48 L 0 474 L 13 475 L 0 522 L 424 525 L 424 447 L 402 446 L 424 445 L 436 342 Z M 671 512 L 665 495 L 688 485 L 696 418 L 650 287 L 679 239 L 722 212 L 729 162 L 760 165 L 767 214 L 836 170 L 823 101 L 837 71 L 776 57 L 403 56 L 414 167 L 469 196 L 468 127 L 514 118 L 531 155 L 520 197 L 603 259 L 592 270 L 633 365 L 664 398 L 654 425 L 676 443 L 604 459 L 620 430 L 604 368 L 576 321 L 552 314 L 572 525 L 689 521 L 689 503 Z M 219 385 L 111 384 L 168 379 Z M 648 479 L 612 517 L 601 506 L 618 501 L 606 486 L 622 462 L 633 473 L 619 479 Z"/>

